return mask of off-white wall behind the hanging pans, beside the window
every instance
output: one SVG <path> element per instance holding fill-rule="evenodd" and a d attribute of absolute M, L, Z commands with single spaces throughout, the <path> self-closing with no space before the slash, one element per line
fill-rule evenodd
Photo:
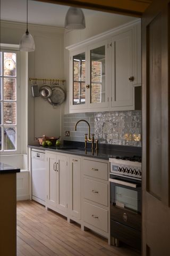
<path fill-rule="evenodd" d="M 36 50 L 28 53 L 28 78 L 64 79 L 64 30 L 57 27 L 29 25 L 29 32 L 35 39 Z M 24 33 L 25 24 L 1 21 L 1 43 L 19 44 Z M 43 81 L 37 84 L 40 87 Z M 62 112 L 63 105 L 54 109 L 44 99 L 33 98 L 31 83 L 28 80 L 28 144 L 37 143 L 34 141 L 35 136 L 61 135 Z M 24 139 L 24 134 L 22 136 Z"/>

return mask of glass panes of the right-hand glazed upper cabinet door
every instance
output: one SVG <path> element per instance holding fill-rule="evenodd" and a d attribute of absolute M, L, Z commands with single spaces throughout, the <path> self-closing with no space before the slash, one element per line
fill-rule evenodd
<path fill-rule="evenodd" d="M 106 101 L 105 45 L 90 50 L 90 103 Z"/>

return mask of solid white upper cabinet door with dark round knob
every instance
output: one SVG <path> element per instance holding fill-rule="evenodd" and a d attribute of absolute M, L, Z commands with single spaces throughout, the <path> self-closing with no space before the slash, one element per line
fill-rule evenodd
<path fill-rule="evenodd" d="M 111 107 L 133 106 L 133 29 L 112 38 L 111 47 Z M 121 110 L 121 109 L 120 109 Z"/>

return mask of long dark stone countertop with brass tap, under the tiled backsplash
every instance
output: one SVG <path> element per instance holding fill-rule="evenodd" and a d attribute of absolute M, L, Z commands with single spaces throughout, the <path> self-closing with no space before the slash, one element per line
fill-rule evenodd
<path fill-rule="evenodd" d="M 41 149 L 54 151 L 58 153 L 65 153 L 77 156 L 86 156 L 93 157 L 99 159 L 108 160 L 109 158 L 114 158 L 116 156 L 141 156 L 141 148 L 140 147 L 132 147 L 132 146 L 119 146 L 119 145 L 106 145 L 99 144 L 98 150 L 94 149 L 94 152 L 91 151 L 91 148 L 84 149 L 84 142 L 78 141 L 64 141 L 64 144 L 56 147 L 49 146 L 43 147 L 39 145 L 28 145 L 30 148 Z M 88 147 L 91 147 L 91 144 L 88 143 Z M 95 147 L 94 147 L 95 148 Z"/>

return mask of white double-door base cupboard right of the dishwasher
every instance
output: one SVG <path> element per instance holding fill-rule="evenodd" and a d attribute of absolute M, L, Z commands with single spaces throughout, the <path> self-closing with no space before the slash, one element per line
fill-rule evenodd
<path fill-rule="evenodd" d="M 47 209 L 52 209 L 67 216 L 68 206 L 68 159 L 56 153 L 46 153 L 47 159 Z"/>

